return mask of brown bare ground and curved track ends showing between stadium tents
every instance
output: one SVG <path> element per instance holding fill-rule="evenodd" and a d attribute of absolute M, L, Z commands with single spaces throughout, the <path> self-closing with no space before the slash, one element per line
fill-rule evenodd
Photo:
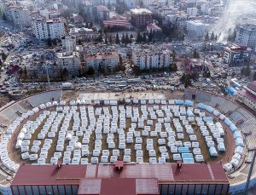
<path fill-rule="evenodd" d="M 136 106 L 136 105 L 133 105 Z M 108 106 L 109 107 L 109 106 Z M 109 110 L 111 111 L 110 107 Z M 140 109 L 139 109 L 140 111 Z M 77 110 L 77 112 L 79 112 L 79 109 Z M 38 118 L 39 114 L 41 112 L 38 112 L 37 114 L 33 115 L 31 118 L 26 119 L 27 120 L 36 120 L 36 118 Z M 142 115 L 142 112 L 140 112 L 140 117 Z M 47 118 L 44 119 L 44 122 L 47 120 Z M 21 152 L 20 150 L 16 150 L 15 149 L 15 144 L 17 141 L 17 136 L 20 132 L 20 129 L 22 128 L 23 124 L 26 123 L 26 121 L 24 121 L 22 124 L 20 124 L 20 126 L 15 130 L 14 136 L 12 137 L 11 141 L 9 141 L 9 156 L 12 160 L 14 160 L 16 163 L 36 163 L 36 162 L 30 162 L 29 160 L 22 160 L 20 158 Z M 31 145 L 30 148 L 32 146 L 32 142 L 37 140 L 38 137 L 38 133 L 40 132 L 40 130 L 42 129 L 44 122 L 41 123 L 41 125 L 38 127 L 38 129 L 36 129 L 35 133 L 32 135 L 32 139 L 31 139 Z M 151 130 L 154 130 L 155 127 L 155 123 L 156 120 L 154 120 L 153 125 L 151 126 Z M 191 124 L 191 123 L 190 123 Z M 119 123 L 118 123 L 119 125 Z M 144 122 L 144 125 L 146 125 L 146 122 Z M 224 125 L 224 124 L 223 124 Z M 73 119 L 71 120 L 70 124 L 69 124 L 69 129 L 71 129 L 71 127 L 73 126 Z M 173 126 L 173 123 L 171 123 L 172 129 L 175 131 L 175 128 Z M 126 129 L 125 129 L 125 133 L 128 132 L 129 128 L 131 127 L 131 119 L 127 118 L 126 119 Z M 61 127 L 59 127 L 59 130 L 61 129 Z M 218 158 L 211 158 L 210 154 L 208 152 L 208 148 L 207 148 L 207 143 L 204 139 L 204 137 L 201 135 L 200 129 L 198 127 L 195 127 L 195 135 L 197 135 L 198 141 L 200 142 L 200 148 L 201 148 L 201 153 L 204 156 L 205 162 L 206 163 L 217 163 L 217 162 L 222 162 L 222 163 L 226 163 L 229 161 L 229 159 L 233 156 L 233 152 L 235 149 L 235 142 L 233 139 L 233 136 L 230 133 L 230 130 L 227 130 L 226 128 L 224 128 L 226 130 L 226 136 L 224 137 L 224 141 L 225 141 L 225 146 L 227 151 L 224 153 L 218 153 Z M 137 131 L 140 131 L 142 133 L 143 129 L 136 129 Z M 163 124 L 162 124 L 162 131 L 163 131 Z M 183 129 L 183 133 L 184 133 L 184 139 L 182 140 L 184 141 L 189 141 L 189 135 L 187 135 L 187 133 L 185 132 L 185 130 Z M 211 134 L 211 132 L 210 132 Z M 53 144 L 51 146 L 51 148 L 49 149 L 48 152 L 48 158 L 46 159 L 46 163 L 49 163 L 50 158 L 53 157 L 54 152 L 55 151 L 55 147 L 56 147 L 56 143 L 57 143 L 57 137 L 58 134 L 55 135 L 55 138 L 53 139 Z M 142 136 L 143 137 L 143 136 Z M 160 138 L 160 135 L 158 135 L 158 137 L 151 137 L 150 135 L 148 135 L 148 137 L 143 137 L 143 160 L 144 163 L 148 163 L 149 162 L 149 156 L 148 156 L 148 151 L 146 150 L 146 139 L 153 139 L 154 140 L 154 149 L 156 150 L 156 158 L 160 157 L 160 151 L 158 150 L 158 139 Z M 166 162 L 168 163 L 174 163 L 175 161 L 172 160 L 172 153 L 170 152 L 170 149 L 168 149 L 169 147 L 167 146 L 167 139 L 166 140 L 166 148 L 167 151 L 169 153 L 169 159 L 166 160 Z M 135 138 L 133 138 L 133 141 L 135 143 Z M 82 142 L 82 137 L 79 138 L 79 142 Z M 114 149 L 118 149 L 119 146 L 119 138 L 118 135 L 115 134 L 114 136 L 114 142 L 115 142 L 115 148 Z M 134 150 L 134 143 L 133 144 L 126 144 L 126 148 L 131 148 L 131 162 L 136 162 L 136 151 Z M 41 147 L 44 145 L 44 141 L 42 141 Z M 65 146 L 64 148 L 66 149 L 66 146 L 68 145 L 68 141 L 65 141 Z M 90 136 L 90 144 L 89 144 L 89 149 L 90 152 L 93 151 L 95 146 L 95 133 L 93 133 Z M 216 145 L 215 145 L 216 146 Z M 64 149 L 64 150 L 65 150 Z M 108 149 L 108 144 L 107 144 L 107 135 L 103 134 L 103 139 L 102 139 L 102 150 L 109 150 L 110 154 L 109 154 L 109 158 L 108 161 L 110 159 L 110 156 L 112 155 L 112 149 Z M 192 149 L 190 148 L 190 152 L 192 151 Z M 38 154 L 40 153 L 40 151 L 38 151 Z M 63 156 L 62 152 L 62 156 Z M 88 158 L 89 162 L 90 162 L 90 158 L 91 158 L 92 154 L 90 153 L 89 157 L 82 157 L 82 158 Z M 124 150 L 120 150 L 120 155 L 119 158 L 122 159 L 124 157 Z M 73 156 L 71 157 L 73 158 Z M 99 157 L 99 162 L 100 162 L 101 156 Z"/>

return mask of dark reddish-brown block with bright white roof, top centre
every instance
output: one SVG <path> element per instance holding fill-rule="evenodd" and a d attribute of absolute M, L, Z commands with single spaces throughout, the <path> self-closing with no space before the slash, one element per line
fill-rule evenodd
<path fill-rule="evenodd" d="M 146 29 L 153 22 L 153 13 L 148 9 L 131 9 L 131 24 L 139 29 Z"/>

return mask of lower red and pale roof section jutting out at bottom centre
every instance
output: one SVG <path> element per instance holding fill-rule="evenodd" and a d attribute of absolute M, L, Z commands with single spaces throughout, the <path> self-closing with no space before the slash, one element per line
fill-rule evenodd
<path fill-rule="evenodd" d="M 79 195 L 139 195 L 159 194 L 156 179 L 83 179 L 79 185 Z"/>

